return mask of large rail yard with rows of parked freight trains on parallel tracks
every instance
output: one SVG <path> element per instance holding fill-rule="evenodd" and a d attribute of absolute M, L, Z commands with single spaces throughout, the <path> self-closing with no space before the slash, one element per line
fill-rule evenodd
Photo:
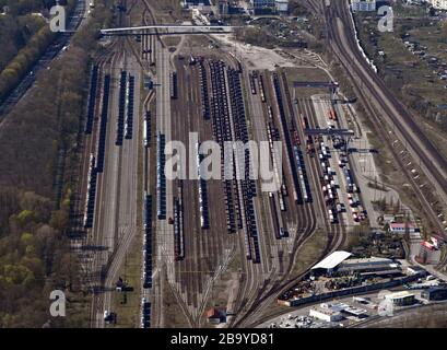
<path fill-rule="evenodd" d="M 157 13 L 146 0 L 120 4 L 125 34 L 110 36 L 91 68 L 72 230 L 93 293 L 91 326 L 203 327 L 216 307 L 226 327 L 268 324 L 287 313 L 277 301 L 315 264 L 346 249 L 353 232 L 377 226 L 362 162 L 375 166 L 380 154 L 357 147 L 367 136 L 344 86 L 319 63 L 294 67 L 290 56 L 267 67 L 219 31 L 183 33 L 175 45 L 163 27 L 126 34 L 157 24 Z M 342 18 L 344 10 L 329 11 Z M 326 20 L 336 40 L 342 28 Z M 268 190 L 254 176 L 249 141 L 266 144 L 259 163 L 271 173 Z M 207 163 L 216 150 L 220 166 Z M 210 170 L 215 177 L 205 179 Z M 421 192 L 414 172 L 407 176 Z M 437 172 L 426 175 L 434 188 L 445 183 Z M 444 230 L 434 209 L 427 214 Z M 311 245 L 316 253 L 297 268 Z M 139 262 L 129 267 L 129 257 Z"/>

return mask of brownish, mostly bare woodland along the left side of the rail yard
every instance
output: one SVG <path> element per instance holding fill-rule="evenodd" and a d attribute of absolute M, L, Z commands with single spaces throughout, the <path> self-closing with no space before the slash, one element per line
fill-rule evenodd
<path fill-rule="evenodd" d="M 50 2 L 44 1 L 45 4 Z M 14 3 L 19 7 L 31 2 Z M 107 7 L 101 7 L 104 3 Z M 80 34 L 74 36 L 70 50 L 51 63 L 51 70 L 37 77 L 37 88 L 30 91 L 30 98 L 25 97 L 11 113 L 11 122 L 2 126 L 0 327 L 45 325 L 48 320 L 48 295 L 57 284 L 67 288 L 70 298 L 84 301 L 78 276 L 79 262 L 71 254 L 66 236 L 70 224 L 71 188 L 75 188 L 69 175 L 77 166 L 73 165 L 70 172 L 62 172 L 64 201 L 60 210 L 54 210 L 52 164 L 60 150 L 64 151 L 64 164 L 75 164 L 79 158 L 72 140 L 78 136 L 80 116 L 83 115 L 89 54 L 97 45 L 94 39 L 97 28 L 111 19 L 110 3 L 109 0 L 97 0 L 97 8 L 102 11 L 97 13 L 95 9 L 92 22 L 83 26 L 85 40 Z M 45 31 L 35 34 L 10 68 L 0 74 L 0 95 L 15 79 L 20 79 L 17 70 L 45 49 L 46 39 Z M 87 316 L 80 315 L 73 324 L 85 326 L 87 320 Z M 64 326 L 67 320 L 48 325 Z"/>

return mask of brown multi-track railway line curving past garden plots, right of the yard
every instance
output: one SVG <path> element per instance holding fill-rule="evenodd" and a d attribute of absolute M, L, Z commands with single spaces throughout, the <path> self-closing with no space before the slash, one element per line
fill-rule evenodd
<path fill-rule="evenodd" d="M 407 112 L 402 104 L 397 101 L 397 98 L 388 91 L 388 89 L 385 86 L 383 80 L 370 69 L 364 57 L 361 55 L 358 48 L 357 48 L 357 43 L 355 43 L 355 31 L 353 28 L 352 24 L 352 19 L 351 19 L 351 13 L 349 10 L 349 5 L 345 1 L 332 1 L 331 7 L 328 9 L 328 11 L 325 13 L 325 9 L 322 7 L 322 2 L 317 2 L 314 0 L 307 0 L 306 1 L 307 5 L 309 9 L 318 14 L 321 15 L 321 18 L 325 19 L 325 22 L 328 26 L 329 30 L 329 40 L 332 45 L 332 51 L 338 56 L 339 61 L 341 65 L 345 68 L 345 71 L 353 78 L 352 82 L 354 85 L 355 83 L 355 77 L 368 77 L 368 79 L 362 79 L 363 81 L 367 82 L 367 85 L 369 88 L 369 91 L 374 92 L 374 97 L 376 101 L 379 102 L 380 107 L 383 110 L 386 112 L 386 115 L 390 117 L 390 120 L 387 120 L 385 118 L 380 118 L 377 116 L 376 108 L 372 105 L 369 102 L 370 95 L 367 93 L 363 93 L 362 89 L 356 86 L 357 93 L 363 97 L 363 101 L 365 102 L 365 107 L 370 112 L 369 116 L 375 119 L 377 125 L 386 124 L 388 125 L 393 125 L 393 126 L 400 126 L 401 120 L 403 120 L 402 125 L 407 125 L 407 128 L 410 129 L 413 135 L 416 136 L 416 138 L 422 142 L 422 145 L 417 144 L 417 141 L 412 137 L 412 135 L 408 131 L 408 129 L 402 128 L 400 130 L 400 139 L 405 140 L 408 144 L 413 149 L 413 156 L 414 154 L 419 155 L 419 159 L 424 163 L 424 172 L 426 173 L 432 173 L 428 176 L 431 177 L 432 180 L 438 184 L 437 189 L 440 189 L 444 191 L 444 202 L 446 199 L 445 196 L 445 190 L 447 188 L 446 185 L 446 160 L 439 154 L 439 152 L 434 148 L 434 145 L 430 142 L 430 140 L 426 139 L 424 136 L 423 131 L 419 128 L 419 126 L 415 124 L 414 119 L 412 118 L 411 114 Z M 340 21 L 343 22 L 344 25 L 344 33 L 342 34 L 344 37 L 348 38 L 349 45 L 351 48 L 351 52 L 348 49 L 344 49 L 343 52 L 343 46 L 344 44 L 341 40 L 342 35 L 340 35 L 339 31 L 339 24 L 337 23 L 337 19 L 340 19 Z M 351 65 L 350 62 L 356 60 L 362 69 L 360 69 L 356 65 Z M 352 68 L 354 67 L 354 72 L 352 71 Z M 395 107 L 395 110 L 397 110 L 397 114 L 391 110 L 391 108 L 388 107 L 388 105 L 383 101 L 383 97 L 379 96 L 376 92 L 376 89 L 374 88 L 374 84 L 376 86 L 379 86 L 379 90 L 381 90 L 384 93 L 386 93 L 388 100 L 390 101 L 390 104 Z M 398 117 L 400 115 L 400 118 Z M 396 129 L 396 128 L 395 128 Z M 399 128 L 400 129 L 400 128 Z M 439 232 L 443 232 L 445 235 L 445 231 L 443 225 L 440 224 L 440 220 L 437 217 L 436 212 L 433 210 L 430 199 L 427 199 L 426 192 L 421 190 L 421 187 L 416 184 L 416 182 L 413 179 L 412 174 L 407 170 L 405 164 L 402 162 L 401 154 L 398 154 L 397 151 L 395 150 L 393 147 L 393 135 L 385 135 L 383 136 L 383 139 L 386 141 L 388 149 L 391 151 L 396 162 L 400 166 L 400 168 L 403 170 L 403 173 L 405 174 L 407 179 L 410 182 L 411 187 L 413 188 L 414 192 L 417 195 L 416 197 L 419 198 L 421 205 L 425 209 L 426 214 L 428 215 L 430 220 L 434 224 L 435 228 L 439 230 Z M 421 148 L 425 148 L 425 152 L 421 150 Z M 439 166 L 435 166 L 431 160 L 430 156 L 424 156 L 422 154 L 431 154 L 431 158 L 435 159 L 437 164 L 440 164 Z M 444 268 L 447 265 L 447 256 L 438 264 L 437 268 Z"/>

